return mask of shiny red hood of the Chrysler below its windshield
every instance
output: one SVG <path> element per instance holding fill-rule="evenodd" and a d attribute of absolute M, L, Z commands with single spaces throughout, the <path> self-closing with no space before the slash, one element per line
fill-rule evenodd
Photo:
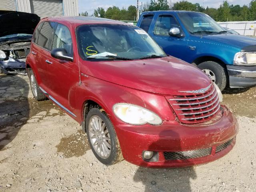
<path fill-rule="evenodd" d="M 180 95 L 179 91 L 199 90 L 211 83 L 201 70 L 174 57 L 84 62 L 90 76 L 158 94 Z"/>

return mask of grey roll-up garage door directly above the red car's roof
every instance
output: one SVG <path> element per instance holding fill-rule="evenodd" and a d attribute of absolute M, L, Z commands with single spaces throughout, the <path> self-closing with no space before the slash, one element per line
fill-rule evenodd
<path fill-rule="evenodd" d="M 31 12 L 41 18 L 63 16 L 62 0 L 30 0 Z"/>

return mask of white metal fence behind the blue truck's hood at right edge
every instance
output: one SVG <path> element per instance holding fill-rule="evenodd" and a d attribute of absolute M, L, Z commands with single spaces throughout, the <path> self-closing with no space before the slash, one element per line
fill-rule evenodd
<path fill-rule="evenodd" d="M 256 28 L 256 21 L 230 21 L 218 22 L 222 27 L 230 28 L 241 35 L 253 36 Z"/>

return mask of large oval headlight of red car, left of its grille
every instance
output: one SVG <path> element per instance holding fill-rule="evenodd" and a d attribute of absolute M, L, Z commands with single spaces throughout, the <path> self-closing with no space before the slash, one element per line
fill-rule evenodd
<path fill-rule="evenodd" d="M 162 124 L 162 119 L 155 113 L 143 107 L 128 103 L 117 103 L 113 106 L 114 114 L 120 120 L 135 125 L 143 125 L 146 123 L 152 125 Z"/>

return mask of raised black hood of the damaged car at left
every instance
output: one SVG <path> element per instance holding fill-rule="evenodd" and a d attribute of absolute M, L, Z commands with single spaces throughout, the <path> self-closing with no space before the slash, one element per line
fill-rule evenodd
<path fill-rule="evenodd" d="M 0 37 L 25 33 L 33 34 L 40 17 L 25 12 L 10 12 L 0 15 Z"/>

